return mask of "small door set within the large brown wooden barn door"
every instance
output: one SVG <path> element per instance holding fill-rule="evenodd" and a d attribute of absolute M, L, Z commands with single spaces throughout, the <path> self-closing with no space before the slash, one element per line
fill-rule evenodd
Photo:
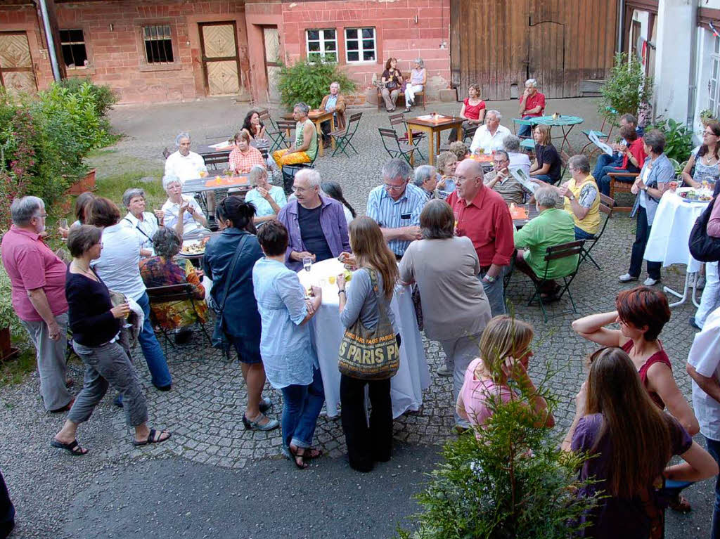
<path fill-rule="evenodd" d="M 534 24 L 528 37 L 528 78 L 537 79 L 546 98 L 564 97 L 564 25 L 557 22 Z"/>

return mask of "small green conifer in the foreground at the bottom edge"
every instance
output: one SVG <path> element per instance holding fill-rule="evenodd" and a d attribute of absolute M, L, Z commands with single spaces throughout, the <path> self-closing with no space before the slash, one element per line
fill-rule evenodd
<path fill-rule="evenodd" d="M 417 499 L 418 529 L 402 539 L 567 539 L 584 525 L 595 498 L 578 497 L 590 481 L 577 479 L 587 456 L 559 449 L 559 437 L 538 426 L 533 391 L 510 381 L 517 399 L 491 399 L 492 417 L 475 433 L 445 445 L 444 463 Z M 544 384 L 541 384 L 544 385 Z M 549 392 L 537 389 L 554 407 Z"/>

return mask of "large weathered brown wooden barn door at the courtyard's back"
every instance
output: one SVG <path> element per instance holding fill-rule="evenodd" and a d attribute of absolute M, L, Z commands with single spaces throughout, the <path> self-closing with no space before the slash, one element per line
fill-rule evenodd
<path fill-rule="evenodd" d="M 537 78 L 549 98 L 580 96 L 580 81 L 613 65 L 615 0 L 450 0 L 450 72 L 458 96 L 516 98 Z"/>

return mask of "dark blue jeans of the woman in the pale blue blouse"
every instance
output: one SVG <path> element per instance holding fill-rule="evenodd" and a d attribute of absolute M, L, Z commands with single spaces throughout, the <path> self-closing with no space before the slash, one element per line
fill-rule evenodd
<path fill-rule="evenodd" d="M 312 382 L 309 386 L 293 384 L 285 386 L 282 391 L 282 448 L 288 451 L 292 445 L 298 448 L 309 448 L 318 415 L 323 409 L 325 391 L 320 369 L 312 369 Z"/>

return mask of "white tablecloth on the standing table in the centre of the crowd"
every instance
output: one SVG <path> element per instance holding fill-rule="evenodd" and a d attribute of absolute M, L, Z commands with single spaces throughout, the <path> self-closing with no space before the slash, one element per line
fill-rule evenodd
<path fill-rule="evenodd" d="M 302 286 L 322 282 L 323 303 L 312 317 L 312 340 L 318 350 L 320 373 L 325 388 L 325 407 L 328 416 L 338 415 L 340 403 L 340 371 L 338 371 L 338 350 L 343 338 L 344 328 L 338 312 L 338 286 L 327 281 L 328 276 L 338 275 L 343 265 L 335 258 L 312 265 L 310 272 L 300 270 L 298 277 Z M 347 286 L 352 286 L 350 281 Z M 398 417 L 408 410 L 416 411 L 423 404 L 423 389 L 430 386 L 430 371 L 425 358 L 423 340 L 415 321 L 415 307 L 410 296 L 409 286 L 397 286 L 392 296 L 390 308 L 395 314 L 397 329 L 400 330 L 400 368 L 392 377 L 390 397 L 392 397 L 392 417 Z"/>

